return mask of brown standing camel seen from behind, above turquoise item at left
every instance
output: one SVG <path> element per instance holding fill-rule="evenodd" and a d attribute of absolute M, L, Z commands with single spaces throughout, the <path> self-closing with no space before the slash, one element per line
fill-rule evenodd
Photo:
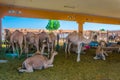
<path fill-rule="evenodd" d="M 19 30 L 16 30 L 12 33 L 10 37 L 10 43 L 12 44 L 13 53 L 20 47 L 20 53 L 18 54 L 18 57 L 22 55 L 23 52 L 23 42 L 26 44 L 26 38 L 22 32 Z M 15 49 L 16 47 L 16 49 Z M 26 45 L 24 46 L 24 48 Z"/>

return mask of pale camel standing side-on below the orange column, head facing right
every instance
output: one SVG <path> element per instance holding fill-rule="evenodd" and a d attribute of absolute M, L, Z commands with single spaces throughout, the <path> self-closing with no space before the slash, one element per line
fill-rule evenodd
<path fill-rule="evenodd" d="M 80 36 L 76 31 L 70 33 L 67 37 L 66 37 L 66 47 L 65 47 L 65 53 L 67 54 L 67 51 L 70 55 L 70 48 L 71 48 L 71 44 L 77 45 L 77 62 L 80 61 L 80 53 L 81 53 L 81 49 L 82 49 L 82 43 L 90 43 L 91 42 L 91 38 L 90 39 L 86 39 L 83 36 Z"/>

